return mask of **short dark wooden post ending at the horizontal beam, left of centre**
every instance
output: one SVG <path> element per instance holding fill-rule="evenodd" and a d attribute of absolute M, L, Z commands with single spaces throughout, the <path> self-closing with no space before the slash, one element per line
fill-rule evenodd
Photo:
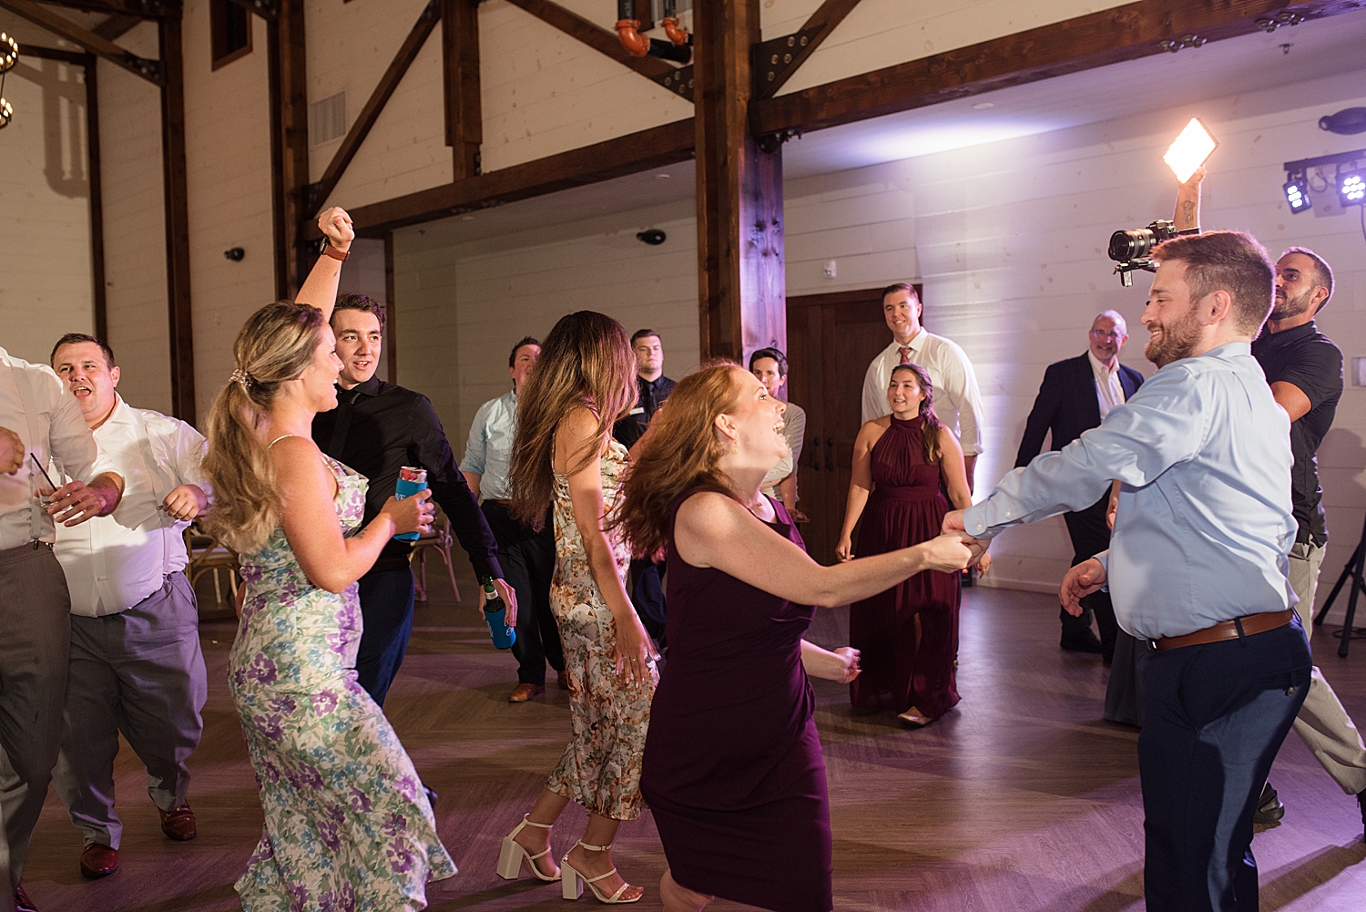
<path fill-rule="evenodd" d="M 452 180 L 481 172 L 484 112 L 479 101 L 479 7 L 477 0 L 441 0 L 445 145 L 455 163 Z"/>

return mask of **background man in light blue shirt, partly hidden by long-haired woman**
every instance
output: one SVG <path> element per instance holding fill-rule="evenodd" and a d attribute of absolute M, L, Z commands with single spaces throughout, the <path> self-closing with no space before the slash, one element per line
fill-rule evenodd
<path fill-rule="evenodd" d="M 470 438 L 464 443 L 460 472 L 470 489 L 482 499 L 484 518 L 499 540 L 499 565 L 508 584 L 516 591 L 516 640 L 512 655 L 518 660 L 518 685 L 508 695 L 510 703 L 526 703 L 545 692 L 545 666 L 564 670 L 560 628 L 550 614 L 550 578 L 555 576 L 555 522 L 546 517 L 535 532 L 518 522 L 508 510 L 508 469 L 512 464 L 512 438 L 516 435 L 516 391 L 541 354 L 541 343 L 527 336 L 512 346 L 508 373 L 512 391 L 489 399 L 474 413 Z M 484 592 L 479 592 L 484 607 Z"/>

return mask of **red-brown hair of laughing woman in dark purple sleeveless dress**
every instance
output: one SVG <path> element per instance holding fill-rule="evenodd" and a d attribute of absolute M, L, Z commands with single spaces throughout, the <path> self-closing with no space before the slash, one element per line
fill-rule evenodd
<path fill-rule="evenodd" d="M 734 412 L 740 397 L 735 371 L 744 368 L 709 361 L 679 380 L 631 453 L 611 525 L 634 554 L 653 556 L 668 546 L 673 503 L 693 488 L 739 499 L 716 468 L 723 455 L 716 417 Z"/>

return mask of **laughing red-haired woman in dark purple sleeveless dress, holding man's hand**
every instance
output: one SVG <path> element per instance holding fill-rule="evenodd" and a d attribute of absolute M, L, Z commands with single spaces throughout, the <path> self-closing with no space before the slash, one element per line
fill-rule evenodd
<path fill-rule="evenodd" d="M 714 897 L 829 912 L 825 763 L 807 674 L 848 681 L 858 656 L 802 634 L 925 569 L 966 566 L 966 536 L 822 567 L 762 494 L 787 451 L 781 402 L 735 364 L 684 377 L 632 453 L 615 522 L 668 559 L 668 662 L 650 707 L 641 792 L 669 870 L 667 912 Z"/>

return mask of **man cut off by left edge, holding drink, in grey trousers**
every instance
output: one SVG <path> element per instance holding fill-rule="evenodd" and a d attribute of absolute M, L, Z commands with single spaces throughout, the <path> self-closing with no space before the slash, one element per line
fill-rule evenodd
<path fill-rule="evenodd" d="M 29 838 L 42 811 L 61 744 L 61 708 L 71 645 L 67 580 L 52 552 L 55 521 L 78 525 L 109 515 L 123 496 L 123 479 L 109 472 L 81 406 L 46 365 L 0 349 L 0 428 L 22 459 L 0 474 L 0 748 L 7 775 L 0 788 L 10 879 L 15 905 L 33 904 L 19 878 Z M 14 438 L 18 436 L 18 443 Z M 56 491 L 37 466 L 60 462 L 79 480 Z M 48 502 L 42 509 L 37 496 Z"/>

